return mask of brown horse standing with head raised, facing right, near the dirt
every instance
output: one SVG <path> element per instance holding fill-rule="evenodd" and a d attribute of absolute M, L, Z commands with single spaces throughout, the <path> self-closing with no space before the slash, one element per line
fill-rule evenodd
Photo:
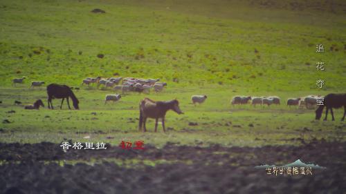
<path fill-rule="evenodd" d="M 143 132 L 147 130 L 145 127 L 145 122 L 147 122 L 147 118 L 153 118 L 155 120 L 155 132 L 157 131 L 157 122 L 158 118 L 162 118 L 162 127 L 163 132 L 165 132 L 165 115 L 168 110 L 173 110 L 174 112 L 183 114 L 183 112 L 179 108 L 179 101 L 173 99 L 171 101 L 153 101 L 152 99 L 145 98 L 140 101 L 139 104 L 139 130 L 142 130 L 142 126 L 144 126 Z"/>

